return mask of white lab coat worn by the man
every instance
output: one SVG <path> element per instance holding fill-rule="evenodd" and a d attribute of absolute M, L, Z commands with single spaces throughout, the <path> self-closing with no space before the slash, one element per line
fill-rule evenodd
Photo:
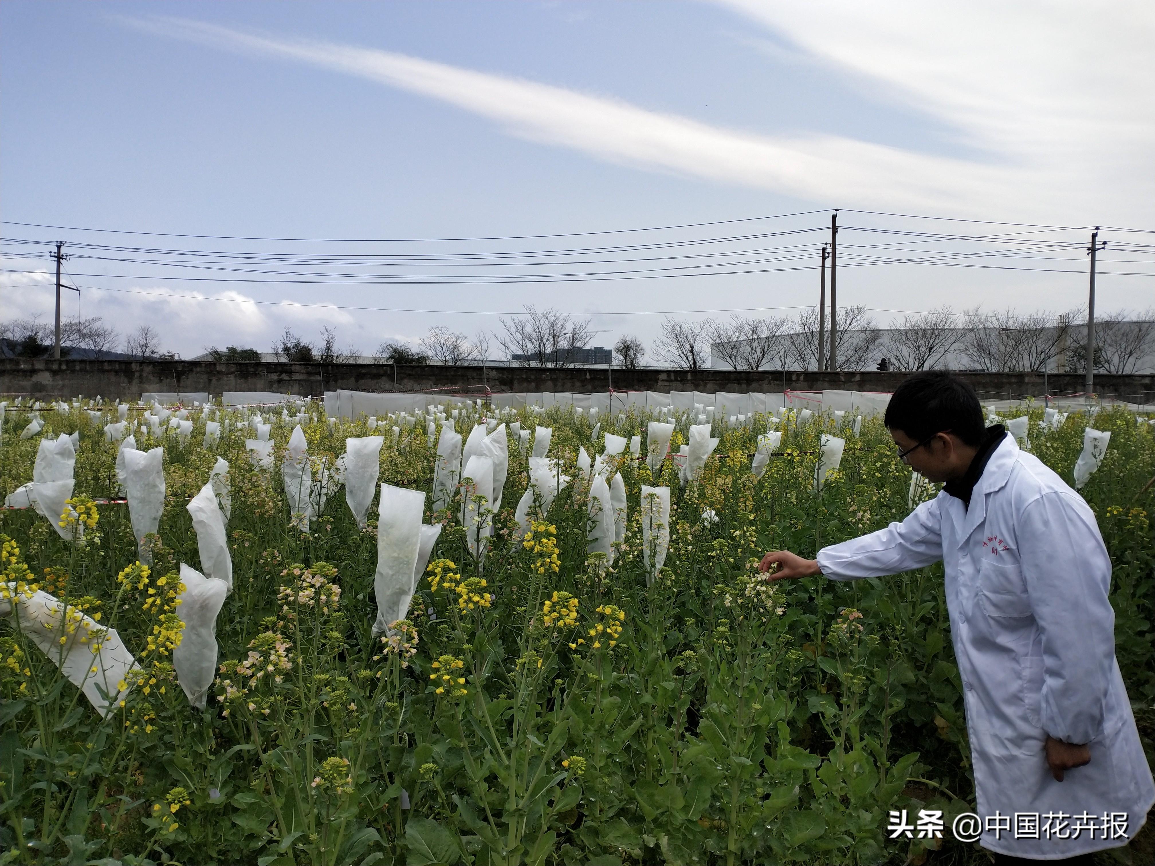
<path fill-rule="evenodd" d="M 1155 782 L 1115 658 L 1111 560 L 1094 513 L 1008 434 L 975 485 L 969 510 L 942 492 L 902 523 L 818 554 L 834 580 L 940 559 L 979 816 L 1011 816 L 1013 830 L 1015 813 L 1063 812 L 1071 820 L 1126 812 L 1133 838 L 1155 802 Z M 1048 734 L 1090 744 L 1090 763 L 1056 782 L 1044 753 Z M 981 844 L 1038 860 L 1127 842 L 1097 831 L 1090 838 L 1086 830 L 1065 839 L 1000 835 L 984 833 Z"/>

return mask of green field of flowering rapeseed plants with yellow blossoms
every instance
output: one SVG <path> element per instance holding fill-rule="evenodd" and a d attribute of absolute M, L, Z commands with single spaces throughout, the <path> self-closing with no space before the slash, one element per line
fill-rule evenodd
<path fill-rule="evenodd" d="M 118 443 L 102 428 L 116 410 L 90 409 L 102 411 L 46 408 L 27 439 L 27 411 L 9 405 L 3 420 L 5 495 L 33 479 L 44 438 L 79 431 L 80 445 L 64 520 L 77 531 L 58 532 L 59 515 L 0 512 L 0 864 L 988 861 L 949 834 L 952 816 L 974 809 L 974 785 L 941 566 L 849 583 L 770 584 L 757 572 L 766 551 L 813 555 L 909 514 L 910 470 L 880 419 L 856 436 L 829 416 L 788 418 L 760 478 L 761 415 L 715 424 L 721 442 L 685 485 L 672 458 L 651 477 L 644 447 L 641 460 L 628 448 L 608 457 L 628 503 L 611 562 L 589 554 L 596 520 L 579 449 L 597 457 L 604 433 L 644 441 L 656 416 L 498 413 L 552 427 L 552 471 L 573 480 L 522 536 L 514 513 L 530 455 L 511 434 L 495 513 L 468 487 L 440 512 L 426 495 L 423 521 L 442 530 L 405 619 L 374 637 L 377 499 L 362 528 L 336 488 L 306 529 L 281 469 L 296 420 L 280 409 L 270 418 L 271 469 L 246 451 L 253 433 L 239 410 L 219 410 L 232 428 L 209 447 L 216 409 L 193 411 L 185 442 L 137 427 L 140 449 L 164 447 L 164 510 L 143 566 L 128 506 L 89 505 L 119 487 Z M 457 432 L 486 411 L 461 409 Z M 365 418 L 306 412 L 318 471 L 346 438 L 373 434 Z M 1042 406 L 1013 412 L 1024 413 L 1031 450 L 1071 483 L 1087 416 L 1044 430 Z M 424 416 L 403 420 L 375 431 L 379 480 L 431 494 L 437 443 Z M 1123 409 L 1093 426 L 1111 439 L 1081 493 L 1115 562 L 1116 652 L 1153 755 L 1155 427 Z M 815 492 L 822 433 L 847 445 Z M 679 420 L 672 454 L 686 438 Z M 218 457 L 230 468 L 233 588 L 199 710 L 172 654 L 184 637 L 180 563 L 206 569 L 186 505 Z M 671 492 L 661 568 L 642 485 Z M 462 498 L 467 516 L 491 524 L 482 545 L 462 524 Z M 70 622 L 97 624 L 98 637 L 116 629 L 135 659 L 107 715 L 21 628 L 21 599 L 37 590 L 67 606 L 61 634 Z M 888 838 L 894 809 L 940 809 L 946 838 Z M 1119 861 L 1155 861 L 1150 834 Z"/>

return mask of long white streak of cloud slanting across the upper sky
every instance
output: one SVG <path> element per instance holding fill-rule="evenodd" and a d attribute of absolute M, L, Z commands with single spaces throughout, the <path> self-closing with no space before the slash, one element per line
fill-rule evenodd
<path fill-rule="evenodd" d="M 774 25 L 772 16 L 762 15 L 760 7 L 737 0 L 735 5 Z M 877 7 L 870 8 L 877 12 Z M 866 12 L 862 15 L 869 17 Z M 960 215 L 990 214 L 997 208 L 999 212 L 1038 218 L 1041 211 L 1060 207 L 1071 193 L 1057 186 L 1055 172 L 1048 171 L 1053 166 L 1034 165 L 1022 151 L 982 163 L 836 135 L 755 135 L 648 111 L 612 97 L 388 51 L 254 35 L 178 18 L 132 18 L 129 23 L 217 48 L 296 60 L 377 81 L 490 118 L 512 135 L 573 148 L 610 162 L 773 189 L 825 204 L 922 208 Z M 881 25 L 875 29 L 886 32 Z M 821 32 L 814 22 L 799 20 L 791 33 L 811 31 L 818 42 Z M 850 33 L 850 25 L 842 31 Z M 901 33 L 893 44 L 881 43 L 879 53 L 899 51 Z M 895 61 L 888 81 L 916 74 L 930 59 L 922 64 L 910 60 L 904 66 Z M 951 62 L 949 58 L 939 60 Z M 955 106 L 954 115 L 966 120 L 979 113 L 985 103 L 977 97 L 968 100 L 966 75 L 956 79 L 952 89 L 942 88 L 946 92 L 940 103 Z M 1053 113 L 1061 114 L 1058 110 Z M 1003 117 L 1013 114 L 1008 110 Z M 1003 121 L 1003 126 L 1007 124 Z M 992 121 L 991 126 L 998 128 L 999 124 Z"/>

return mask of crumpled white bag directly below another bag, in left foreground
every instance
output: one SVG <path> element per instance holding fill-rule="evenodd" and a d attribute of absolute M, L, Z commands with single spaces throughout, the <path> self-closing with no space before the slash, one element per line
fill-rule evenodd
<path fill-rule="evenodd" d="M 185 591 L 178 596 L 180 620 L 185 627 L 180 643 L 172 650 L 172 666 L 185 697 L 193 707 L 203 710 L 209 686 L 217 673 L 216 621 L 229 587 L 224 581 L 206 577 L 185 562 L 180 563 L 180 582 L 185 584 Z"/>

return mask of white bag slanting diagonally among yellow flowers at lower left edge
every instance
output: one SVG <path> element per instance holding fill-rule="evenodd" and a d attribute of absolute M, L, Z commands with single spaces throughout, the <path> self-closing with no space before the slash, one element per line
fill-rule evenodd
<path fill-rule="evenodd" d="M 60 669 L 102 716 L 107 716 L 127 689 L 120 684 L 136 667 L 120 635 L 91 617 L 43 591 L 17 592 L 0 583 L 0 617 L 18 622 L 23 632 Z"/>

